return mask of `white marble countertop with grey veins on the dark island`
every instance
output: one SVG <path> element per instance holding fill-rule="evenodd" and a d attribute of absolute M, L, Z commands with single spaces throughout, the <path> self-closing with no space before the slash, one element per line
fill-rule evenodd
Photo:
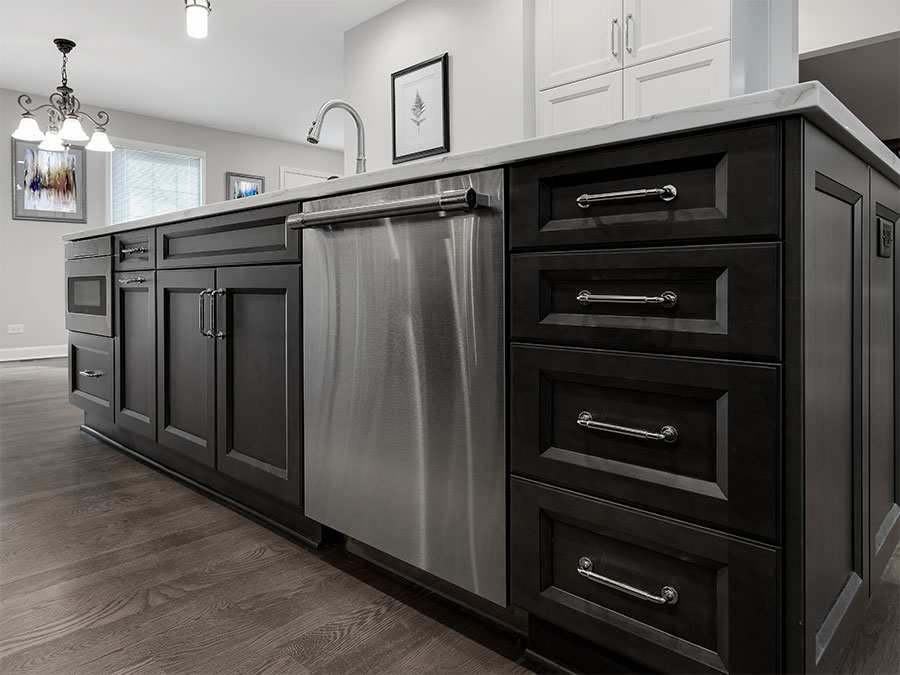
<path fill-rule="evenodd" d="M 801 114 L 809 119 L 862 160 L 900 185 L 900 158 L 888 150 L 875 134 L 869 131 L 824 86 L 818 82 L 804 82 L 780 89 L 770 89 L 689 108 L 680 108 L 657 115 L 648 115 L 552 136 L 541 136 L 470 152 L 441 155 L 322 183 L 266 192 L 235 201 L 206 204 L 127 223 L 70 232 L 63 236 L 63 241 L 115 234 L 284 202 L 306 201 L 341 193 L 358 192 L 392 183 L 405 183 L 441 175 L 478 171 L 534 157 L 600 148 L 613 143 L 795 114 Z"/>

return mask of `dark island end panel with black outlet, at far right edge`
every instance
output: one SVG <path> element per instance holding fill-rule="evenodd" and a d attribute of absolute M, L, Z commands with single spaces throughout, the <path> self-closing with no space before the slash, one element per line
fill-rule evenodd
<path fill-rule="evenodd" d="M 870 588 L 881 577 L 900 535 L 900 489 L 894 425 L 894 296 L 900 192 L 872 171 L 869 213 L 869 551 Z"/>

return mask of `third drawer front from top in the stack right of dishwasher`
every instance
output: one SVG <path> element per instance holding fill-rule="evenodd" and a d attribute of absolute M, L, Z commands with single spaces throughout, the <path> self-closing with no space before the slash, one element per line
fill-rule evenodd
<path fill-rule="evenodd" d="M 510 372 L 515 473 L 777 541 L 777 366 L 513 345 Z"/>

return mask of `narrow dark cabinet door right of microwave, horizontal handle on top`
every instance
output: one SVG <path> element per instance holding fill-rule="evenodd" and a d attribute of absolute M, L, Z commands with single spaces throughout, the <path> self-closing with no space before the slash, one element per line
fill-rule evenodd
<path fill-rule="evenodd" d="M 116 422 L 156 440 L 156 273 L 114 275 Z"/>

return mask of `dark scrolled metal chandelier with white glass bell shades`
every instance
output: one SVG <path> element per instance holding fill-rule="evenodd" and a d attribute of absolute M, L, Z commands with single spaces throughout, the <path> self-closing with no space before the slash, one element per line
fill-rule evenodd
<path fill-rule="evenodd" d="M 115 148 L 109 142 L 106 135 L 106 125 L 109 123 L 109 115 L 103 110 L 97 113 L 97 119 L 91 117 L 88 113 L 81 109 L 81 101 L 72 93 L 69 87 L 69 78 L 66 74 L 66 63 L 69 60 L 69 52 L 75 48 L 75 43 L 65 38 L 56 38 L 53 43 L 63 55 L 62 67 L 62 84 L 56 88 L 56 92 L 50 94 L 47 98 L 50 103 L 29 108 L 31 97 L 28 94 L 19 96 L 19 107 L 25 112 L 22 113 L 22 119 L 19 126 L 13 132 L 13 138 L 20 141 L 31 141 L 32 143 L 41 144 L 38 146 L 41 150 L 50 150 L 53 152 L 64 151 L 70 143 L 80 143 L 88 140 L 87 134 L 81 126 L 81 119 L 86 117 L 94 124 L 94 133 L 91 136 L 90 143 L 85 146 L 87 150 L 95 150 L 97 152 L 112 152 Z M 47 108 L 47 133 L 43 133 L 38 126 L 34 113 L 43 108 Z"/>

